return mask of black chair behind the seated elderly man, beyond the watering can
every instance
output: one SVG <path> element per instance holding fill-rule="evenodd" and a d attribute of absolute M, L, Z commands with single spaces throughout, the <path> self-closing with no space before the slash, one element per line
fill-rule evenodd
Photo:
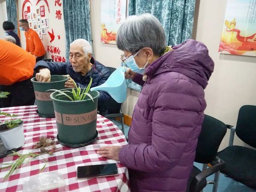
<path fill-rule="evenodd" d="M 116 68 L 107 67 L 108 70 L 111 72 L 111 74 L 116 70 Z M 105 103 L 105 106 L 108 109 L 108 114 L 105 115 L 108 119 L 114 119 L 116 117 L 119 117 L 121 119 L 122 124 L 122 133 L 125 133 L 124 130 L 124 113 L 121 111 L 122 103 L 116 102 L 111 96 L 108 102 Z"/>

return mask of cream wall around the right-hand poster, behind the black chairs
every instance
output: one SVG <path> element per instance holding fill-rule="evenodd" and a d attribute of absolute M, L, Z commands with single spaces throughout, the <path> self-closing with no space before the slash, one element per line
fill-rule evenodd
<path fill-rule="evenodd" d="M 239 108 L 244 104 L 256 105 L 256 57 L 218 53 L 226 5 L 227 0 L 198 0 L 194 37 L 207 45 L 215 62 L 205 90 L 205 113 L 226 124 L 236 125 Z M 228 144 L 227 136 L 221 149 Z M 235 144 L 244 145 L 237 137 Z"/>

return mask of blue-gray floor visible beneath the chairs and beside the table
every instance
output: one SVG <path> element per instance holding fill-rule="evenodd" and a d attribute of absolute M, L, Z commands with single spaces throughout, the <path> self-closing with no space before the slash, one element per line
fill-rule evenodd
<path fill-rule="evenodd" d="M 119 121 L 111 120 L 114 124 L 116 124 L 117 127 L 121 129 L 121 123 Z M 129 126 L 125 126 L 125 136 L 128 135 Z M 202 169 L 202 164 L 195 163 L 196 167 L 198 167 L 200 170 Z M 214 175 L 211 175 L 207 178 L 207 181 L 213 181 Z M 204 192 L 212 192 L 212 186 L 211 184 L 208 184 L 204 188 Z M 245 186 L 244 184 L 241 184 L 231 178 L 225 177 L 223 174 L 220 174 L 219 178 L 219 184 L 218 184 L 218 192 L 256 192 L 256 190 L 251 189 L 250 187 Z"/>

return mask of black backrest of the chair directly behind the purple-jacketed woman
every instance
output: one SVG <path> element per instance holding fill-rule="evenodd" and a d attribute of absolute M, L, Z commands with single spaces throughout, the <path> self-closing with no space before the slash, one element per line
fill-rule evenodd
<path fill-rule="evenodd" d="M 204 115 L 204 122 L 198 137 L 195 162 L 207 164 L 213 161 L 226 132 L 226 124 L 211 116 Z"/>

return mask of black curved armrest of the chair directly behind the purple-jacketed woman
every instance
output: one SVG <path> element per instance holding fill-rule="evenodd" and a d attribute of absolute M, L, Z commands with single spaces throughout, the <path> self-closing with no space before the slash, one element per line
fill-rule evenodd
<path fill-rule="evenodd" d="M 200 182 L 225 167 L 225 162 L 218 157 L 216 157 L 210 164 L 213 164 L 213 166 L 205 169 L 192 180 L 190 184 L 190 191 L 201 191 L 203 188 L 201 189 Z"/>

